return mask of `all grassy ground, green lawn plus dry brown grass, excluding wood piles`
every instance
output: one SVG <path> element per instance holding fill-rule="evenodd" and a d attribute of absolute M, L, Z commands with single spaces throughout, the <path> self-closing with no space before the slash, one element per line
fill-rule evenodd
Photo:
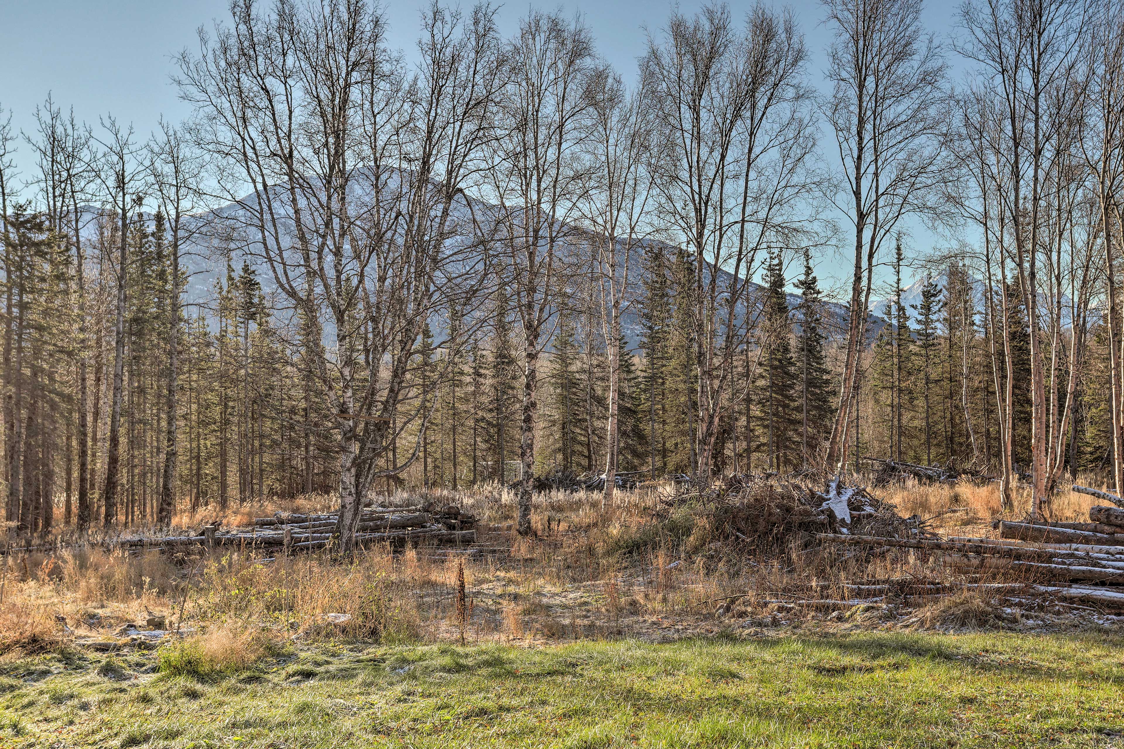
<path fill-rule="evenodd" d="M 1004 516 L 992 487 L 883 496 L 945 535 Z M 643 491 L 544 495 L 534 540 L 509 491 L 437 498 L 481 518 L 489 551 L 25 556 L 0 605 L 0 749 L 1124 749 L 1124 616 L 972 592 L 798 608 L 777 597 L 809 580 L 955 578 L 908 552 L 754 559 L 705 520 L 652 521 Z"/>

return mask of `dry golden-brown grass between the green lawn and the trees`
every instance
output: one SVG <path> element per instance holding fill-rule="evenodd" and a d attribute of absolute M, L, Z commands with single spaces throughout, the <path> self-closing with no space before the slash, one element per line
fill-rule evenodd
<path fill-rule="evenodd" d="M 837 550 L 800 543 L 781 544 L 768 553 L 751 544 L 731 545 L 716 539 L 706 514 L 685 511 L 654 520 L 652 507 L 662 490 L 656 486 L 618 491 L 609 506 L 602 506 L 598 493 L 542 495 L 532 514 L 534 539 L 514 533 L 516 496 L 496 486 L 379 500 L 400 506 L 427 500 L 460 505 L 480 518 L 482 545 L 510 548 L 509 554 L 496 557 L 443 557 L 442 550 L 427 547 L 372 549 L 346 562 L 320 556 L 262 560 L 248 552 L 183 560 L 155 551 L 123 556 L 97 549 L 12 557 L 0 611 L 0 638 L 6 638 L 0 649 L 55 647 L 47 643 L 61 642 L 56 615 L 64 616 L 81 638 L 106 634 L 124 622 L 143 622 L 152 613 L 166 615 L 171 628 L 182 624 L 200 632 L 206 641 L 198 640 L 197 649 L 208 662 L 226 662 L 223 647 L 215 643 L 229 642 L 233 651 L 253 655 L 254 647 L 242 639 L 244 632 L 256 632 L 255 642 L 264 642 L 262 633 L 453 639 L 462 629 L 454 605 L 462 560 L 471 606 L 463 630 L 475 641 L 646 635 L 669 619 L 686 622 L 687 631 L 705 633 L 723 625 L 714 613 L 731 596 L 749 594 L 737 602 L 737 610 L 761 615 L 776 614 L 776 602 L 796 596 L 855 598 L 845 584 L 856 579 L 963 579 L 908 550 L 871 560 L 859 553 L 841 558 Z M 876 494 L 897 504 L 904 515 L 935 517 L 934 526 L 950 535 L 991 534 L 990 521 L 1003 516 L 994 484 L 906 484 Z M 1014 516 L 1025 513 L 1028 499 L 1021 496 L 1019 502 Z M 1091 497 L 1066 491 L 1055 498 L 1054 515 L 1080 518 L 1091 504 Z M 239 508 L 223 520 L 246 523 L 275 511 L 328 506 L 326 498 L 307 497 L 297 504 Z M 963 511 L 946 512 L 951 508 Z M 181 521 L 194 523 L 201 517 Z M 939 625 L 957 617 L 972 620 L 972 601 L 966 594 L 963 601 L 942 603 L 923 621 Z M 727 612 L 732 608 L 726 606 Z M 789 611 L 783 616 L 790 621 L 812 613 Z"/>

